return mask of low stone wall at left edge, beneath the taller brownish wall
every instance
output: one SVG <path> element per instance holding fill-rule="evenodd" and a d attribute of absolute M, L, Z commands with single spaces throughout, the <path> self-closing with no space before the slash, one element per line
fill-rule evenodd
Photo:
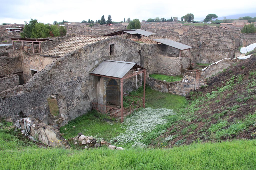
<path fill-rule="evenodd" d="M 0 92 L 18 86 L 19 76 L 17 74 L 14 74 L 11 76 L 3 77 L 0 79 L 0 84 Z"/>

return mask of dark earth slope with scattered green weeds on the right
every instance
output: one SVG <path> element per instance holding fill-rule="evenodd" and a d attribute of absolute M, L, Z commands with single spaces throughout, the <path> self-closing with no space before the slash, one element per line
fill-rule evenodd
<path fill-rule="evenodd" d="M 152 146 L 255 139 L 255 51 L 252 54 L 251 58 L 210 77 L 206 87 L 191 93 L 189 106 L 170 118 L 171 126 L 152 140 Z"/>

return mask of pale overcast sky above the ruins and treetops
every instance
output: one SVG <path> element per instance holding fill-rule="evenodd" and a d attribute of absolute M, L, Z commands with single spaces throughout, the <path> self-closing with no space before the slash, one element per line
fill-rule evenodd
<path fill-rule="evenodd" d="M 147 20 L 148 18 L 178 17 L 187 13 L 195 16 L 195 21 L 203 20 L 208 14 L 218 17 L 253 13 L 256 10 L 256 1 L 215 0 L 215 1 L 168 1 L 168 0 L 141 0 L 141 1 L 107 1 L 107 0 L 12 0 L 1 1 L 0 23 L 18 23 L 29 21 L 30 18 L 38 22 L 53 23 L 54 21 L 81 22 L 82 20 L 95 21 L 102 15 L 107 20 L 111 15 L 112 21 L 123 21 L 124 18 Z"/>

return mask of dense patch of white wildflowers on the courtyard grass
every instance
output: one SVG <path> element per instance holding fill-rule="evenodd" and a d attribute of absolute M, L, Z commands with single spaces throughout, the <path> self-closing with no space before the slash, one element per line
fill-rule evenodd
<path fill-rule="evenodd" d="M 127 117 L 123 126 L 125 126 L 125 133 L 120 134 L 117 137 L 112 138 L 109 142 L 117 141 L 116 144 L 124 145 L 128 143 L 134 143 L 133 147 L 144 147 L 144 143 L 141 141 L 144 136 L 152 132 L 156 125 L 166 124 L 167 120 L 164 119 L 165 116 L 175 115 L 176 113 L 170 109 L 152 109 L 146 108 L 141 111 L 134 112 L 130 117 Z"/>

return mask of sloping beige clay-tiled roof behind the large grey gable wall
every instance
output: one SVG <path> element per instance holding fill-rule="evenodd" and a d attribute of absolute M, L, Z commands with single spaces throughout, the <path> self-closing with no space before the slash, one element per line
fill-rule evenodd
<path fill-rule="evenodd" d="M 106 38 L 109 38 L 109 36 L 74 36 L 57 45 L 56 47 L 46 51 L 42 54 L 42 56 L 62 57 L 65 54 L 70 53 L 71 51 L 74 51 L 80 47 L 102 41 Z"/>

